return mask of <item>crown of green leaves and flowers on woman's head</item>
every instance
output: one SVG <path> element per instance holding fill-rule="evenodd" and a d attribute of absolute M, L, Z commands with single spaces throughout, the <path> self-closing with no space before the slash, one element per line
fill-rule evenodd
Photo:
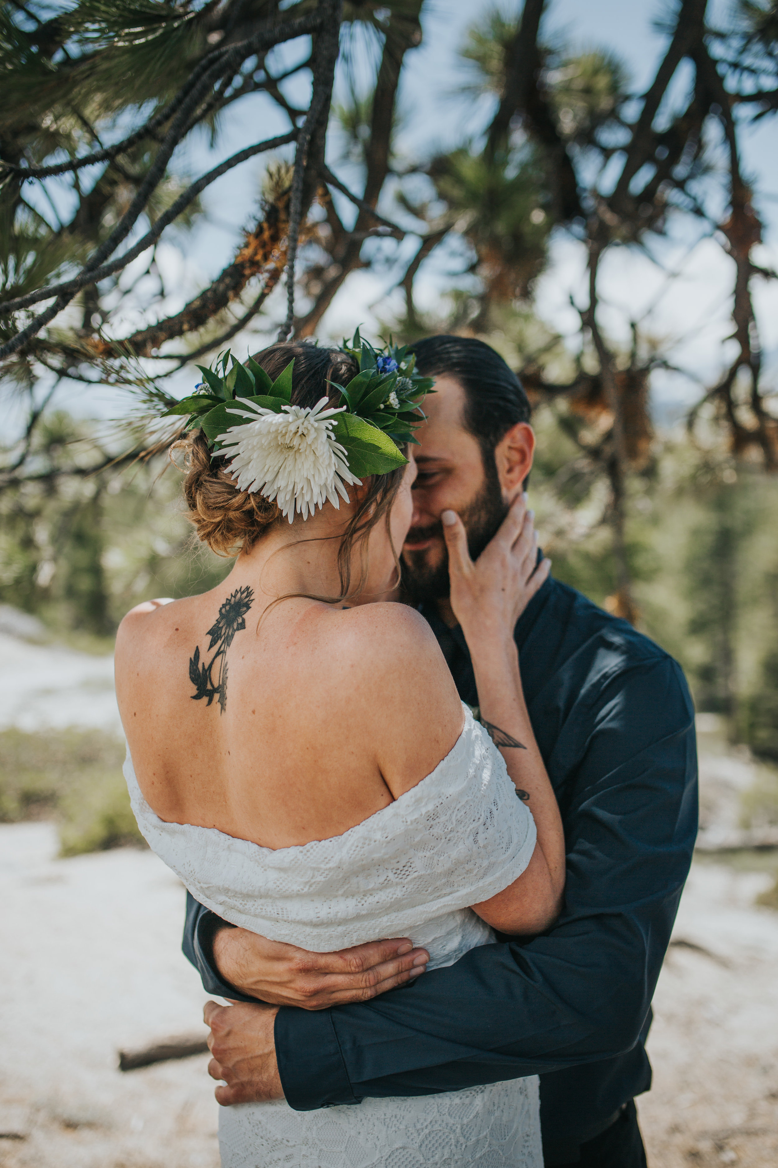
<path fill-rule="evenodd" d="M 406 465 L 399 447 L 416 443 L 419 403 L 433 387 L 407 346 L 390 340 L 376 349 L 357 329 L 339 348 L 359 373 L 348 385 L 328 382 L 339 394 L 335 406 L 327 397 L 292 405 L 294 359 L 271 381 L 252 357 L 240 362 L 227 349 L 213 369 L 197 367 L 204 381 L 163 416 L 190 415 L 185 429 L 202 429 L 211 457 L 231 458 L 236 487 L 275 500 L 290 523 L 295 512 L 308 519 L 325 500 L 339 507 L 338 495 L 349 501 L 346 485 Z"/>

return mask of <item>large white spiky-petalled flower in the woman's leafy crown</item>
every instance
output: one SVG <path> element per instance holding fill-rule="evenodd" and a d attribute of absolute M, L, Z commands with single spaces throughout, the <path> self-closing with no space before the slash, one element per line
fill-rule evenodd
<path fill-rule="evenodd" d="M 217 440 L 234 447 L 230 472 L 240 491 L 259 491 L 275 500 L 292 522 L 295 509 L 308 519 L 325 499 L 339 508 L 338 494 L 349 502 L 344 484 L 362 486 L 349 470 L 345 450 L 330 432 L 335 415 L 345 406 L 324 409 L 329 404 L 325 397 L 313 409 L 285 405 L 281 413 L 240 397 L 236 404 L 247 409 L 227 409 L 227 413 L 251 420 L 230 426 Z"/>

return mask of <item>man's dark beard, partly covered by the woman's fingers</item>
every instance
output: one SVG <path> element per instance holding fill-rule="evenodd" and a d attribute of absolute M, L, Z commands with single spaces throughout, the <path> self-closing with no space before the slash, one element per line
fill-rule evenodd
<path fill-rule="evenodd" d="M 460 519 L 468 533 L 468 550 L 471 559 L 477 559 L 507 515 L 509 507 L 503 500 L 497 467 L 493 458 L 484 459 L 484 482 L 467 507 L 460 510 Z M 489 465 L 491 464 L 491 465 Z M 412 527 L 407 540 L 411 547 L 402 549 L 402 588 L 414 604 L 422 600 L 442 600 L 449 595 L 448 548 L 443 537 L 443 526 L 439 521 L 427 527 Z M 433 540 L 430 547 L 413 550 L 413 541 Z"/>

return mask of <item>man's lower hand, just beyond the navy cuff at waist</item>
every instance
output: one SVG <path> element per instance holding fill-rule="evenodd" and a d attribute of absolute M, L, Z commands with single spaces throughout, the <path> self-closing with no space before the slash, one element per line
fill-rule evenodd
<path fill-rule="evenodd" d="M 212 1079 L 224 1079 L 216 1089 L 223 1107 L 233 1103 L 266 1103 L 283 1099 L 283 1087 L 275 1061 L 273 1027 L 278 1009 L 257 1002 L 217 1006 L 205 1002 L 203 1018 L 211 1028 L 208 1047 L 213 1056 L 208 1064 Z"/>

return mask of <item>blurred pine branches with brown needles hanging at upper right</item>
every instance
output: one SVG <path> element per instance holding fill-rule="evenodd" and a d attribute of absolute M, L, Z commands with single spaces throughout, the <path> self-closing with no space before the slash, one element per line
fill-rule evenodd
<path fill-rule="evenodd" d="M 470 183 L 453 186 L 451 168 L 458 158 L 454 154 L 434 160 L 428 173 L 440 197 L 457 213 L 456 230 L 476 257 L 469 272 L 481 277 L 481 303 L 468 322 L 476 332 L 485 331 L 496 304 L 531 292 L 553 227 L 563 227 L 587 246 L 589 298 L 579 306 L 582 345 L 575 376 L 567 384 L 549 381 L 542 362 L 532 354 L 524 355 L 523 375 L 537 401 L 568 398 L 568 432 L 608 475 L 615 555 L 610 606 L 633 620 L 626 480 L 630 473 L 651 467 L 649 376 L 652 368 L 666 364 L 666 357 L 645 343 L 637 322 L 629 355 L 609 345 L 597 318 L 602 259 L 616 246 L 637 244 L 650 251 L 651 238 L 666 234 L 673 217 L 695 216 L 717 229 L 736 265 L 733 319 L 738 352 L 692 422 L 713 403 L 734 449 L 741 454 L 758 450 L 764 465 L 773 468 L 778 420 L 761 388 L 750 283 L 755 276 L 775 273 L 757 269 L 751 259 L 761 224 L 741 174 L 735 111 L 741 103 L 756 110 L 755 117 L 776 109 L 776 6 L 741 4 L 730 28 L 715 29 L 706 23 L 705 0 L 681 0 L 665 22 L 665 57 L 637 103 L 628 72 L 612 53 L 589 49 L 573 56 L 544 43 L 544 7 L 542 0 L 527 0 L 514 21 L 493 11 L 472 28 L 462 55 L 483 88 L 498 98 L 479 155 L 481 169 L 470 160 Z M 692 65 L 692 75 L 686 95 L 679 98 L 671 96 L 671 83 L 682 61 Z M 467 84 L 474 88 L 472 82 Z M 713 133 L 716 126 L 719 135 Z M 507 231 L 504 203 L 496 193 L 506 188 L 509 176 L 514 182 L 519 179 L 528 157 L 534 168 L 528 185 L 535 199 L 514 199 L 516 225 Z M 617 159 L 621 166 L 614 181 Z M 724 218 L 715 216 L 710 199 L 715 165 L 728 176 Z M 538 228 L 534 236 L 533 224 Z M 497 278 L 495 257 L 499 257 Z M 500 266 L 510 269 L 512 280 Z"/>

